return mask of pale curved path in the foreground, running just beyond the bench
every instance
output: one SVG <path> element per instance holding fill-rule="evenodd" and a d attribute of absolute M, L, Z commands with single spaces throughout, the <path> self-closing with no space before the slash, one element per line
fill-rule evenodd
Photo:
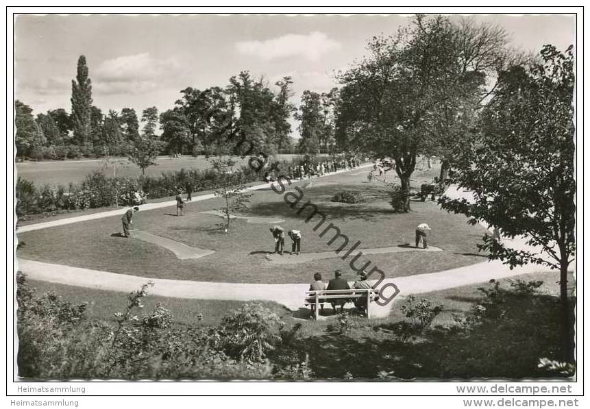
<path fill-rule="evenodd" d="M 129 293 L 146 282 L 156 284 L 149 290 L 150 294 L 162 297 L 194 299 L 231 299 L 237 301 L 265 300 L 275 301 L 291 310 L 304 307 L 305 292 L 309 284 L 243 284 L 195 282 L 188 280 L 167 280 L 162 278 L 139 277 L 69 267 L 62 264 L 49 264 L 32 260 L 19 259 L 19 271 L 33 280 L 41 280 L 69 286 L 95 288 L 97 290 L 114 290 Z M 439 273 L 417 274 L 406 277 L 387 278 L 382 285 L 392 283 L 400 290 L 397 299 L 410 294 L 429 293 L 469 284 L 488 282 L 492 278 L 501 279 L 513 275 L 541 271 L 539 266 L 509 269 L 500 262 L 482 262 Z M 392 290 L 393 291 L 393 290 Z M 389 293 L 386 293 L 387 297 Z M 386 317 L 394 303 L 387 306 L 375 306 L 375 317 Z"/>

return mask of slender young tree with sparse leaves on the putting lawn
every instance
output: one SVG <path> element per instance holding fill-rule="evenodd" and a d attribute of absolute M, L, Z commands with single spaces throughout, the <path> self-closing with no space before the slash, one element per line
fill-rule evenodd
<path fill-rule="evenodd" d="M 223 213 L 223 223 L 219 226 L 225 229 L 225 234 L 230 234 L 232 215 L 248 210 L 250 193 L 245 193 L 244 175 L 240 171 L 234 171 L 236 161 L 222 156 L 210 159 L 212 168 L 217 171 L 217 179 L 214 183 L 214 195 L 223 198 L 223 206 L 218 210 Z"/>

